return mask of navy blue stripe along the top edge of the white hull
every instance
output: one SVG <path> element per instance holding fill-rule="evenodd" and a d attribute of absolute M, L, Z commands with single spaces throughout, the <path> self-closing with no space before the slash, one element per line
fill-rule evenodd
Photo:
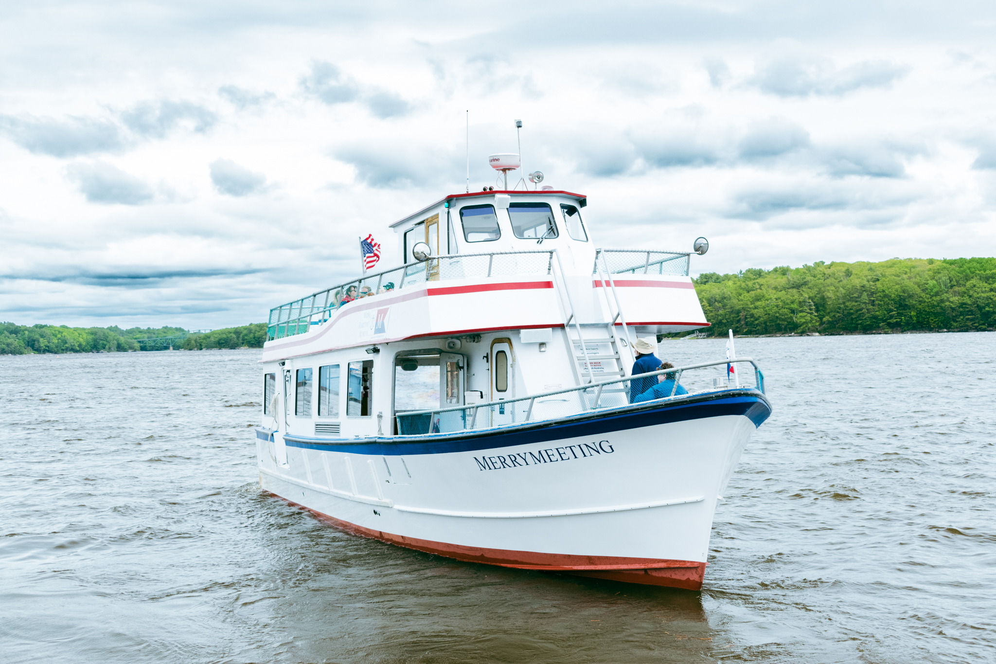
<path fill-rule="evenodd" d="M 443 454 L 449 452 L 473 452 L 489 450 L 514 445 L 532 445 L 552 440 L 567 438 L 584 438 L 599 436 L 626 429 L 638 429 L 654 424 L 683 422 L 706 417 L 721 417 L 724 415 L 743 415 L 761 426 L 771 415 L 771 405 L 760 392 L 738 390 L 735 396 L 709 395 L 702 398 L 695 395 L 688 401 L 676 404 L 649 406 L 638 410 L 626 408 L 623 412 L 605 414 L 580 415 L 570 421 L 556 423 L 537 422 L 535 425 L 525 424 L 514 430 L 490 429 L 480 433 L 462 433 L 447 436 L 433 434 L 431 438 L 358 438 L 322 439 L 308 436 L 285 434 L 284 441 L 290 447 L 300 447 L 309 450 L 327 450 L 332 452 L 348 452 L 352 454 L 379 454 L 384 456 L 400 456 L 411 454 Z M 728 393 L 728 392 L 727 392 Z M 697 397 L 697 398 L 696 398 Z M 260 431 L 257 437 L 269 440 L 269 436 Z"/>

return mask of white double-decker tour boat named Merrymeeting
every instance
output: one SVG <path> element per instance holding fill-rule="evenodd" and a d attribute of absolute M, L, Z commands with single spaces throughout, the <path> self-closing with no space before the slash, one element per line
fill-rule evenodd
<path fill-rule="evenodd" d="M 630 403 L 664 373 L 630 389 L 637 335 L 709 324 L 689 252 L 597 249 L 587 203 L 446 196 L 391 225 L 399 267 L 273 309 L 262 488 L 423 552 L 701 587 L 716 503 L 771 413 L 763 375 L 676 367 L 687 394 Z"/>

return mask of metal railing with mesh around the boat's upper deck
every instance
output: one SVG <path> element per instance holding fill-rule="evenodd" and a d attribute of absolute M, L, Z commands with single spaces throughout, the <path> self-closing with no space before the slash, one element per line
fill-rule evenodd
<path fill-rule="evenodd" d="M 270 310 L 267 340 L 303 334 L 329 320 L 332 313 L 351 302 L 379 293 L 397 291 L 425 282 L 467 277 L 515 277 L 549 275 L 556 250 L 497 251 L 484 254 L 450 254 L 412 261 L 381 272 L 373 272 L 300 300 Z M 597 249 L 611 274 L 687 276 L 688 254 L 635 249 Z"/>

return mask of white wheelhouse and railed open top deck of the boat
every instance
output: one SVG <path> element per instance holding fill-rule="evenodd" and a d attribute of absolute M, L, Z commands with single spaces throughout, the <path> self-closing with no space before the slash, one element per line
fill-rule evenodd
<path fill-rule="evenodd" d="M 688 252 L 597 249 L 582 219 L 587 201 L 583 194 L 555 190 L 441 198 L 390 225 L 401 236 L 398 267 L 271 309 L 268 339 L 309 332 L 359 300 L 380 299 L 427 282 L 552 275 L 555 257 L 565 276 L 597 276 L 600 270 L 688 276 Z M 430 258 L 415 259 L 417 243 L 428 245 Z"/>

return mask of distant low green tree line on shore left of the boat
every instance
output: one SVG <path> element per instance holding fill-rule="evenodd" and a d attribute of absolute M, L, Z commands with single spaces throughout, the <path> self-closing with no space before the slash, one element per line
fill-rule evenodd
<path fill-rule="evenodd" d="M 187 334 L 174 348 L 261 348 L 266 324 L 254 323 L 212 332 L 189 332 L 182 328 L 70 328 L 69 326 L 19 326 L 0 323 L 0 355 L 33 352 L 124 352 L 143 349 L 136 339 Z"/>

